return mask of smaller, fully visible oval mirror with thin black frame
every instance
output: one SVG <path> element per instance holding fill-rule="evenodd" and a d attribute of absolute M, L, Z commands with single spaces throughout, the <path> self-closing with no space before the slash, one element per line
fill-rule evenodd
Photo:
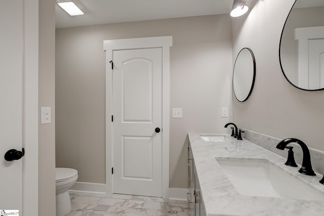
<path fill-rule="evenodd" d="M 235 98 L 246 101 L 250 97 L 255 81 L 255 58 L 250 48 L 239 51 L 233 70 L 233 91 Z"/>

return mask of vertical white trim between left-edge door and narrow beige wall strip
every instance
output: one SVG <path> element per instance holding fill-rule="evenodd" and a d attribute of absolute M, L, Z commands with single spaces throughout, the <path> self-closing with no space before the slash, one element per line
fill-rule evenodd
<path fill-rule="evenodd" d="M 38 215 L 38 0 L 24 0 L 23 215 Z"/>

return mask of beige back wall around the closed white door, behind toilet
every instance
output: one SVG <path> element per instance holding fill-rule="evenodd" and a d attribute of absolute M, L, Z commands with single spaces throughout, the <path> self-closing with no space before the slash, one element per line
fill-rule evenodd
<path fill-rule="evenodd" d="M 222 118 L 221 108 L 232 112 L 229 15 L 56 29 L 56 165 L 76 168 L 78 182 L 105 184 L 103 40 L 166 35 L 171 108 L 183 108 L 183 118 L 170 119 L 170 187 L 187 188 L 188 132 L 228 131 L 231 116 Z"/>

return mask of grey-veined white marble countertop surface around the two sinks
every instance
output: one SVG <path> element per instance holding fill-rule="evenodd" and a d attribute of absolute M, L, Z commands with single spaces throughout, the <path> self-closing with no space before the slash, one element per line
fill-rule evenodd
<path fill-rule="evenodd" d="M 215 157 L 266 158 L 324 196 L 324 185 L 318 182 L 322 178 L 321 175 L 316 174 L 315 177 L 302 175 L 298 172 L 300 165 L 298 167 L 286 166 L 287 158 L 246 140 L 232 138 L 228 142 L 206 142 L 200 139 L 200 134 L 206 135 L 207 133 L 188 133 L 188 137 L 197 171 L 196 178 L 200 183 L 201 198 L 205 204 L 207 215 L 324 215 L 324 201 L 239 194 L 222 171 Z M 231 138 L 229 134 L 224 133 L 213 135 L 225 135 Z"/>

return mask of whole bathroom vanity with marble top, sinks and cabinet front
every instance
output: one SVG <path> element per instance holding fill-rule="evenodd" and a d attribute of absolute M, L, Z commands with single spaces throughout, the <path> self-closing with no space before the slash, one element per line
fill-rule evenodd
<path fill-rule="evenodd" d="M 188 137 L 190 215 L 323 215 L 321 175 L 302 175 L 300 165 L 230 134 Z"/>

